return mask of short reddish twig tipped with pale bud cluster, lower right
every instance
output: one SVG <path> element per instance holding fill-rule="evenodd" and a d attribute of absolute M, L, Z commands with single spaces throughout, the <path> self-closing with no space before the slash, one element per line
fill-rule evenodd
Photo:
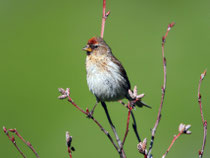
<path fill-rule="evenodd" d="M 192 132 L 189 131 L 191 125 L 185 125 L 185 124 L 180 124 L 179 125 L 179 133 L 177 135 L 174 136 L 170 146 L 168 147 L 167 151 L 165 152 L 165 154 L 162 156 L 162 158 L 165 158 L 166 155 L 168 154 L 168 152 L 170 151 L 171 147 L 173 146 L 173 144 L 175 143 L 175 141 L 182 135 L 182 134 L 191 134 Z"/>

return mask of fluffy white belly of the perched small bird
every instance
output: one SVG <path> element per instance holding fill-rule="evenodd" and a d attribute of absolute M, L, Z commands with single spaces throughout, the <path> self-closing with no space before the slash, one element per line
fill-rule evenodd
<path fill-rule="evenodd" d="M 119 73 L 117 65 L 108 66 L 107 69 L 89 65 L 87 83 L 98 101 L 117 101 L 127 94 L 126 80 Z"/>

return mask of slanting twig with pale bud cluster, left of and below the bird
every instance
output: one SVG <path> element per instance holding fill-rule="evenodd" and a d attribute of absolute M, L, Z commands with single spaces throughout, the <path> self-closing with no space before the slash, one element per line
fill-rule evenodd
<path fill-rule="evenodd" d="M 70 97 L 70 89 L 67 88 L 66 90 L 62 89 L 62 88 L 59 88 L 58 89 L 59 92 L 62 94 L 61 96 L 59 96 L 58 98 L 59 99 L 65 99 L 65 98 L 68 98 L 68 101 L 74 106 L 76 107 L 80 112 L 82 112 L 83 114 L 85 114 L 87 117 L 90 116 L 90 112 L 88 109 L 86 109 L 86 112 L 84 110 L 82 110 L 73 100 L 72 98 Z M 119 153 L 119 149 L 117 147 L 117 145 L 115 144 L 115 142 L 113 141 L 111 135 L 109 134 L 108 131 L 106 131 L 103 126 L 92 116 L 92 117 L 89 117 L 91 118 L 96 124 L 97 126 L 102 130 L 102 132 L 109 138 L 109 140 L 111 141 L 111 143 L 113 144 L 113 146 L 115 147 L 115 149 L 118 151 Z"/>

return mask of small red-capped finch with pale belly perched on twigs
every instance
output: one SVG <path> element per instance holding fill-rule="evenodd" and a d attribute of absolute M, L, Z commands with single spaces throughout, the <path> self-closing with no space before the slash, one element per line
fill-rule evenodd
<path fill-rule="evenodd" d="M 87 52 L 87 84 L 97 103 L 101 102 L 104 106 L 107 101 L 119 101 L 123 98 L 132 101 L 128 93 L 131 86 L 126 71 L 106 42 L 101 37 L 93 37 L 83 50 Z M 140 100 L 135 104 L 138 107 L 149 107 Z"/>

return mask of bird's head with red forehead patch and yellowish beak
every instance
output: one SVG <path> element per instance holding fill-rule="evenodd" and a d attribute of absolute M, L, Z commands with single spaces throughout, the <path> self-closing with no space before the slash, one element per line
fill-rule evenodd
<path fill-rule="evenodd" d="M 87 52 L 87 55 L 105 55 L 110 52 L 109 46 L 101 37 L 92 37 L 89 39 L 83 50 Z"/>

